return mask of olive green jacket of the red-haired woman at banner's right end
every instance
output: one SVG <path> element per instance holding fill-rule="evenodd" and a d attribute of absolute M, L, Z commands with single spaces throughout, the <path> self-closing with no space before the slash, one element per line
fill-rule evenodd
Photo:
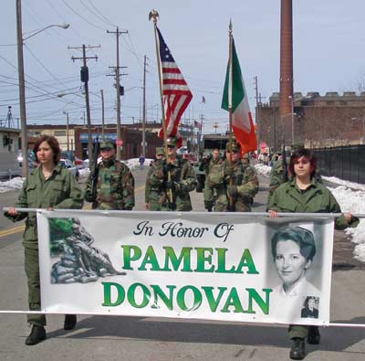
<path fill-rule="evenodd" d="M 279 186 L 268 202 L 267 209 L 290 213 L 341 213 L 336 198 L 316 178 L 312 178 L 311 185 L 304 193 L 297 187 L 295 178 Z M 335 219 L 336 229 L 356 227 L 358 224 L 359 218 L 355 217 L 350 222 L 344 216 Z"/>

